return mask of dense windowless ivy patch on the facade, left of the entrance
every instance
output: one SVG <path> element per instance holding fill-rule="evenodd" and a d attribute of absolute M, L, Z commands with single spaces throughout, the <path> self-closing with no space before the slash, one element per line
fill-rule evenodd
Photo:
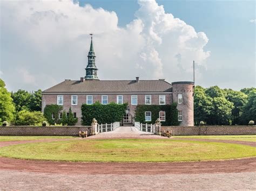
<path fill-rule="evenodd" d="M 91 105 L 83 104 L 82 109 L 82 124 L 91 125 L 92 119 L 96 118 L 99 124 L 120 122 L 125 115 L 126 104 L 109 103 L 106 105 L 96 102 Z"/>

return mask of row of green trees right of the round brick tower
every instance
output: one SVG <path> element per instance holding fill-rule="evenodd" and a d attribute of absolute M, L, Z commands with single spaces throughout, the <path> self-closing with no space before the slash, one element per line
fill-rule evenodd
<path fill-rule="evenodd" d="M 194 123 L 207 125 L 247 125 L 256 121 L 256 88 L 240 91 L 218 86 L 194 89 Z"/>

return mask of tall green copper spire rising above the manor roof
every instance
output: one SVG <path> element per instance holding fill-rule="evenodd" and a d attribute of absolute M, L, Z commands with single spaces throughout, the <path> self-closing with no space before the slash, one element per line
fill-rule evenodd
<path fill-rule="evenodd" d="M 92 44 L 92 34 L 91 35 L 91 46 L 90 46 L 90 51 L 87 55 L 88 57 L 88 64 L 85 68 L 86 70 L 86 75 L 85 75 L 85 80 L 99 80 L 98 79 L 98 76 L 97 76 L 97 70 L 98 68 L 96 67 L 96 64 L 95 64 L 95 52 L 94 52 L 94 49 L 93 49 L 93 44 Z"/>

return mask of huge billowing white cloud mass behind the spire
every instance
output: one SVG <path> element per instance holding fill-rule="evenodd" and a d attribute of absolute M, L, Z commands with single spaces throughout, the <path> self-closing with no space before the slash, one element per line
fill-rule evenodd
<path fill-rule="evenodd" d="M 11 89 L 49 88 L 85 75 L 94 33 L 100 79 L 192 80 L 192 61 L 204 67 L 208 38 L 155 1 L 138 1 L 136 19 L 118 27 L 115 12 L 72 1 L 1 2 L 1 52 Z M 4 49 L 4 51 L 3 51 Z M 26 70 L 17 72 L 13 68 Z M 26 72 L 24 72 L 26 71 Z M 22 79 L 16 83 L 14 77 Z M 35 82 L 35 83 L 34 83 Z M 54 82 L 54 83 L 53 83 Z"/>

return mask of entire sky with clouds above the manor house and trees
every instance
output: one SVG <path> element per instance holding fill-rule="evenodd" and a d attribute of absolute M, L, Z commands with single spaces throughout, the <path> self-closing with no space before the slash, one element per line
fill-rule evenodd
<path fill-rule="evenodd" d="M 10 91 L 85 76 L 255 87 L 255 1 L 1 1 L 0 77 Z"/>

